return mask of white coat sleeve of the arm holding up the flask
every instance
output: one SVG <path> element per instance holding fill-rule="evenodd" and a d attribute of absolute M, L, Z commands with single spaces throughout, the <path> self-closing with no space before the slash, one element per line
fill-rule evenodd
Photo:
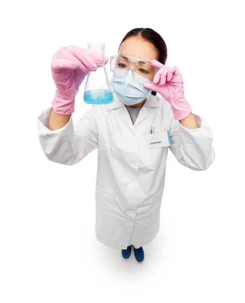
<path fill-rule="evenodd" d="M 92 107 L 73 125 L 72 115 L 62 128 L 47 128 L 52 107 L 44 109 L 37 118 L 41 148 L 48 160 L 64 165 L 74 165 L 97 148 L 98 133 Z"/>

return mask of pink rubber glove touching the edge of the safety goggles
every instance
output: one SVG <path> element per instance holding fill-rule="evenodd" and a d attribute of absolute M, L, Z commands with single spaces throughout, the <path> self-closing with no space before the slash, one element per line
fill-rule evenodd
<path fill-rule="evenodd" d="M 159 68 L 154 76 L 153 84 L 144 84 L 144 87 L 159 92 L 171 105 L 175 120 L 186 118 L 192 111 L 184 97 L 183 78 L 175 67 L 167 67 L 157 60 L 152 60 L 152 65 Z M 159 80 L 161 79 L 160 83 Z"/>

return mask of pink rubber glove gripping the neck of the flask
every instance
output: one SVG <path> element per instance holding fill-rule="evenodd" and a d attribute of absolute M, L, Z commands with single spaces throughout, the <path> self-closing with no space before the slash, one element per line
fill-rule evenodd
<path fill-rule="evenodd" d="M 74 112 L 75 96 L 88 71 L 95 71 L 103 58 L 89 48 L 76 45 L 61 47 L 51 62 L 56 94 L 52 101 L 54 111 L 62 115 Z M 108 57 L 105 56 L 105 64 Z"/>

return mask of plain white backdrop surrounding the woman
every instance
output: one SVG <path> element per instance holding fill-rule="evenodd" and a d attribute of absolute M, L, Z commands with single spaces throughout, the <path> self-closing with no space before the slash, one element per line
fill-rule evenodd
<path fill-rule="evenodd" d="M 241 1 L 13 1 L 1 5 L 0 301 L 244 302 L 244 20 Z M 243 24 L 242 24 L 243 23 Z M 167 162 L 161 227 L 128 262 L 95 238 L 97 150 L 75 166 L 43 154 L 37 116 L 61 46 L 116 55 L 134 27 L 159 32 L 166 66 L 214 133 L 214 164 Z M 107 67 L 108 68 L 108 67 Z M 111 74 L 108 69 L 108 74 Z M 74 123 L 91 108 L 76 97 Z"/>

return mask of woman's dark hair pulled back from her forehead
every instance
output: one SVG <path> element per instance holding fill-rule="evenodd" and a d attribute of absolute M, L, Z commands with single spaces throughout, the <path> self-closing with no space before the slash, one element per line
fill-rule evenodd
<path fill-rule="evenodd" d="M 157 52 L 157 61 L 165 65 L 167 60 L 167 46 L 164 39 L 159 35 L 159 33 L 151 28 L 133 28 L 126 33 L 122 39 L 122 42 L 130 37 L 136 36 L 152 43 Z M 120 43 L 118 50 L 120 49 L 122 42 Z M 152 94 L 156 95 L 156 91 L 152 91 Z"/>

